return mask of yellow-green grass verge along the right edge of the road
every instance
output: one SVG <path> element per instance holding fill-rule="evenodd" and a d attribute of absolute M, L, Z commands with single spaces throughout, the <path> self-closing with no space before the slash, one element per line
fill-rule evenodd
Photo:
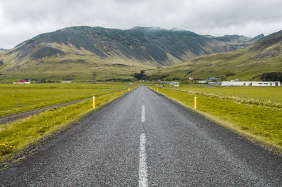
<path fill-rule="evenodd" d="M 281 108 L 226 101 L 173 89 L 158 88 L 158 91 L 188 108 L 193 107 L 197 96 L 197 112 L 282 153 Z"/>

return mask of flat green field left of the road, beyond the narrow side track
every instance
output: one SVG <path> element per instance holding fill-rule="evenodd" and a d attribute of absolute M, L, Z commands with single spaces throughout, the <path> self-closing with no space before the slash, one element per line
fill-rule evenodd
<path fill-rule="evenodd" d="M 128 88 L 125 83 L 99 84 L 0 84 L 0 116 L 57 103 L 101 96 Z"/>

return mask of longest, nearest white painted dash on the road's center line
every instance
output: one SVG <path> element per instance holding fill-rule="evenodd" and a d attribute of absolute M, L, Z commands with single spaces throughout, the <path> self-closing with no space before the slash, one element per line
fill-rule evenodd
<path fill-rule="evenodd" d="M 147 165 L 146 165 L 146 136 L 142 133 L 140 136 L 140 161 L 139 161 L 139 186 L 148 186 Z"/>

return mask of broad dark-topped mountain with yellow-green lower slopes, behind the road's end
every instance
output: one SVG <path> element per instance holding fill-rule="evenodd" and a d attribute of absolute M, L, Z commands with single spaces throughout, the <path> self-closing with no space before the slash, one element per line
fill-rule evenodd
<path fill-rule="evenodd" d="M 133 79 L 140 70 L 241 49 L 253 41 L 159 27 L 68 27 L 39 34 L 0 53 L 0 80 Z"/>

